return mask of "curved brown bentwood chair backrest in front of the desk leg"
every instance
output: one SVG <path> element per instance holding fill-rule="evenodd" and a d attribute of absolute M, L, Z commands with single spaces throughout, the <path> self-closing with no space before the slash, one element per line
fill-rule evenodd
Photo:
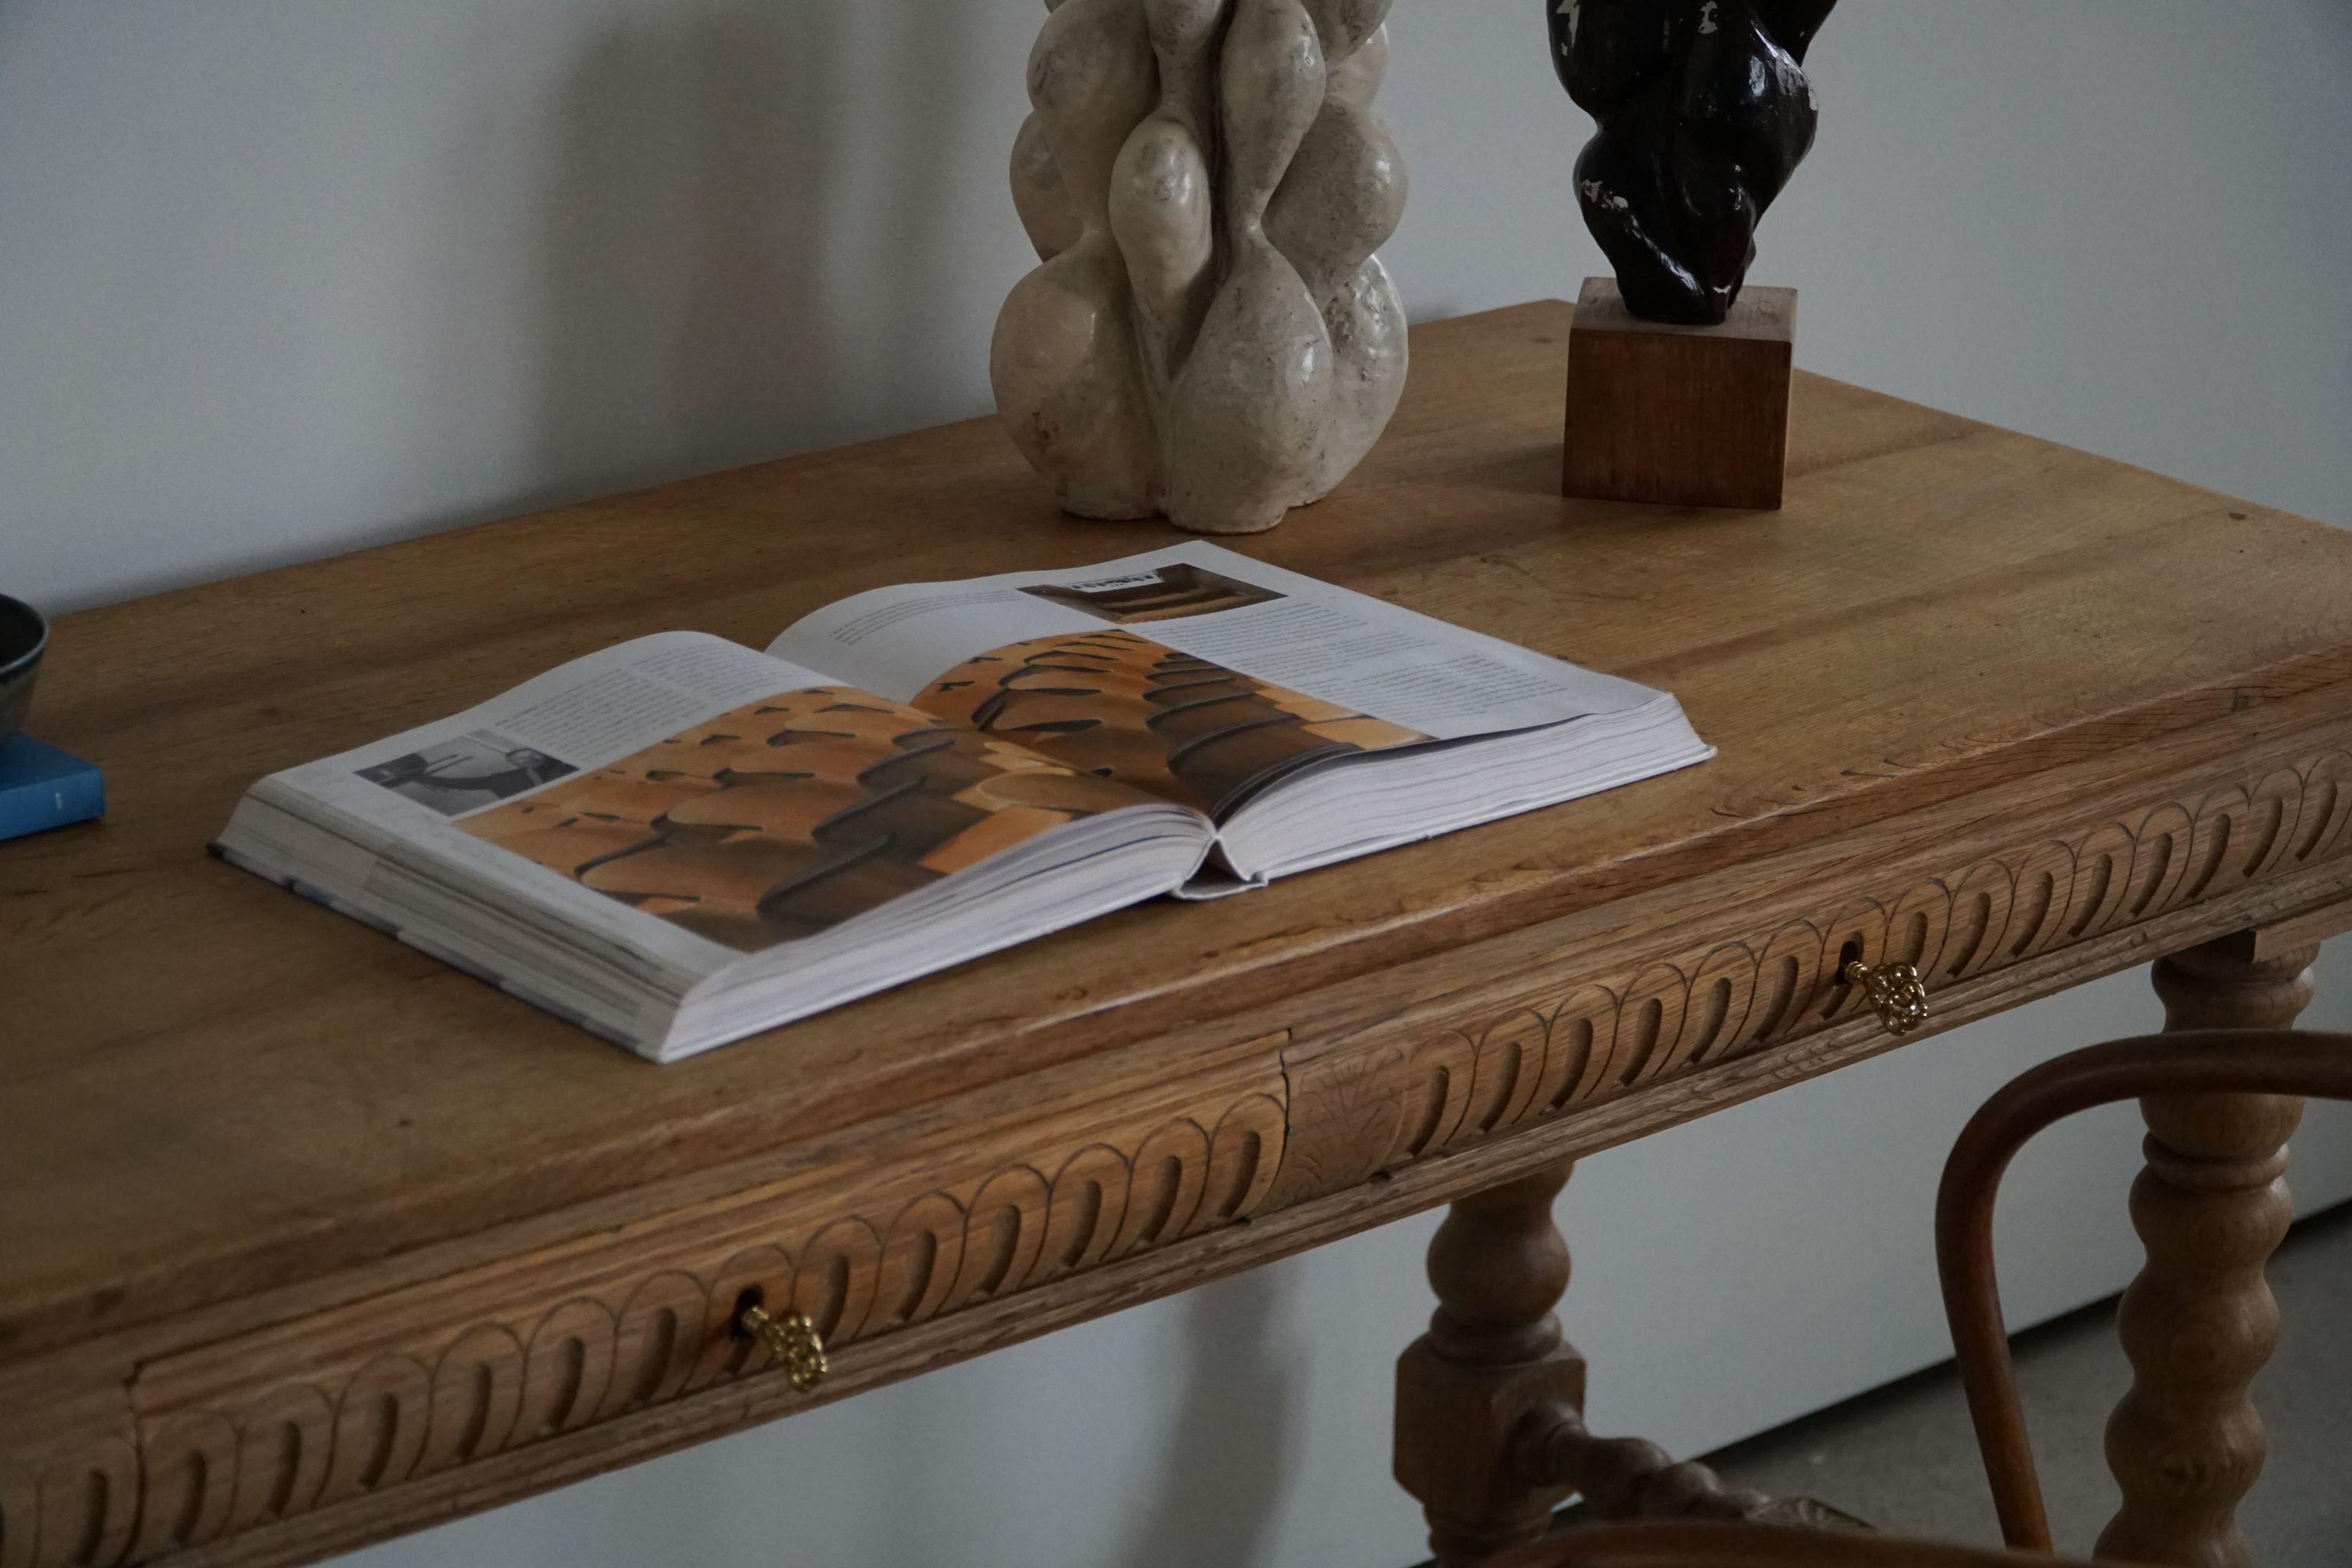
<path fill-rule="evenodd" d="M 2091 1046 L 2060 1056 L 1992 1095 L 1959 1135 L 1936 1194 L 1936 1267 L 1943 1274 L 1943 1307 L 1952 1319 L 1969 1415 L 1985 1450 L 2002 1537 L 2011 1547 L 2046 1552 L 2051 1530 L 2018 1408 L 1992 1269 L 1992 1206 L 2002 1173 L 2034 1133 L 2056 1121 L 2098 1105 L 2166 1093 L 2352 1100 L 2352 1034 L 2194 1030 Z"/>

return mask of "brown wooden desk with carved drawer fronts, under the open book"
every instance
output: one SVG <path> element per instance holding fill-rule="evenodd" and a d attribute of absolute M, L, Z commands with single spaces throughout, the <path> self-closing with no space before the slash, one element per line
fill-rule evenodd
<path fill-rule="evenodd" d="M 748 1288 L 840 1399 L 1519 1182 L 1406 1361 L 1475 1554 L 1545 1507 L 1479 1422 L 1581 1371 L 1529 1194 L 1889 1048 L 1842 957 L 1938 1027 L 2291 919 L 2209 990 L 2300 971 L 2352 896 L 2352 536 L 1820 378 L 1785 512 L 1566 503 L 1566 327 L 1416 334 L 1367 470 L 1247 548 L 1668 686 L 1719 762 L 675 1067 L 202 846 L 621 637 L 1167 531 L 969 423 L 64 618 L 38 719 L 113 816 L 0 846 L 0 1563 L 303 1561 L 804 1408 Z"/>

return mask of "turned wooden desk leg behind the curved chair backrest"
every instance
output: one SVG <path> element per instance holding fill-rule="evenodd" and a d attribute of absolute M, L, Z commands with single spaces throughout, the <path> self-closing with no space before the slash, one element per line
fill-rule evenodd
<path fill-rule="evenodd" d="M 2164 1027 L 2293 1027 L 2317 952 L 2256 959 L 2241 933 L 2161 959 Z M 2117 1319 L 2133 1382 L 2107 1422 L 2107 1467 L 2124 1507 L 2098 1556 L 2246 1568 L 2237 1502 L 2270 1446 L 2251 1385 L 2279 1342 L 2263 1265 L 2293 1218 L 2286 1138 L 2303 1100 L 2152 1095 L 2140 1112 L 2147 1168 L 2131 1187 L 2131 1222 L 2147 1265 Z"/>

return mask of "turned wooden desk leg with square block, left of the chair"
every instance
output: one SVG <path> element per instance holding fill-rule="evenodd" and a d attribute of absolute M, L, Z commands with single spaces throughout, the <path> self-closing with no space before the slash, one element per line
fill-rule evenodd
<path fill-rule="evenodd" d="M 1585 1363 L 1552 1307 L 1569 1246 L 1552 1199 L 1571 1166 L 1454 1204 L 1430 1244 L 1437 1314 L 1397 1361 L 1397 1481 L 1421 1500 L 1442 1568 L 1470 1568 L 1545 1533 L 1566 1486 L 1512 1465 L 1519 1422 L 1585 1403 Z"/>

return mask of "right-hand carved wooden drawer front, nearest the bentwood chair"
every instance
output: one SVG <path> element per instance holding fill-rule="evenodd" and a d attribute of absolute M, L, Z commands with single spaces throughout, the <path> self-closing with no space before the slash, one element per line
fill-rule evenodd
<path fill-rule="evenodd" d="M 1712 898 L 1677 886 L 1649 912 L 1628 900 L 1397 966 L 1294 1020 L 1291 1138 L 1268 1206 L 1870 1018 L 1846 961 L 1910 964 L 1931 1001 L 1983 994 L 2009 969 L 2352 867 L 2343 736 L 2246 748 L 2161 795 L 2039 785 L 2006 813 L 1971 802 L 1889 825 L 1879 858 L 1853 835 L 1818 863 L 1733 867 Z"/>

